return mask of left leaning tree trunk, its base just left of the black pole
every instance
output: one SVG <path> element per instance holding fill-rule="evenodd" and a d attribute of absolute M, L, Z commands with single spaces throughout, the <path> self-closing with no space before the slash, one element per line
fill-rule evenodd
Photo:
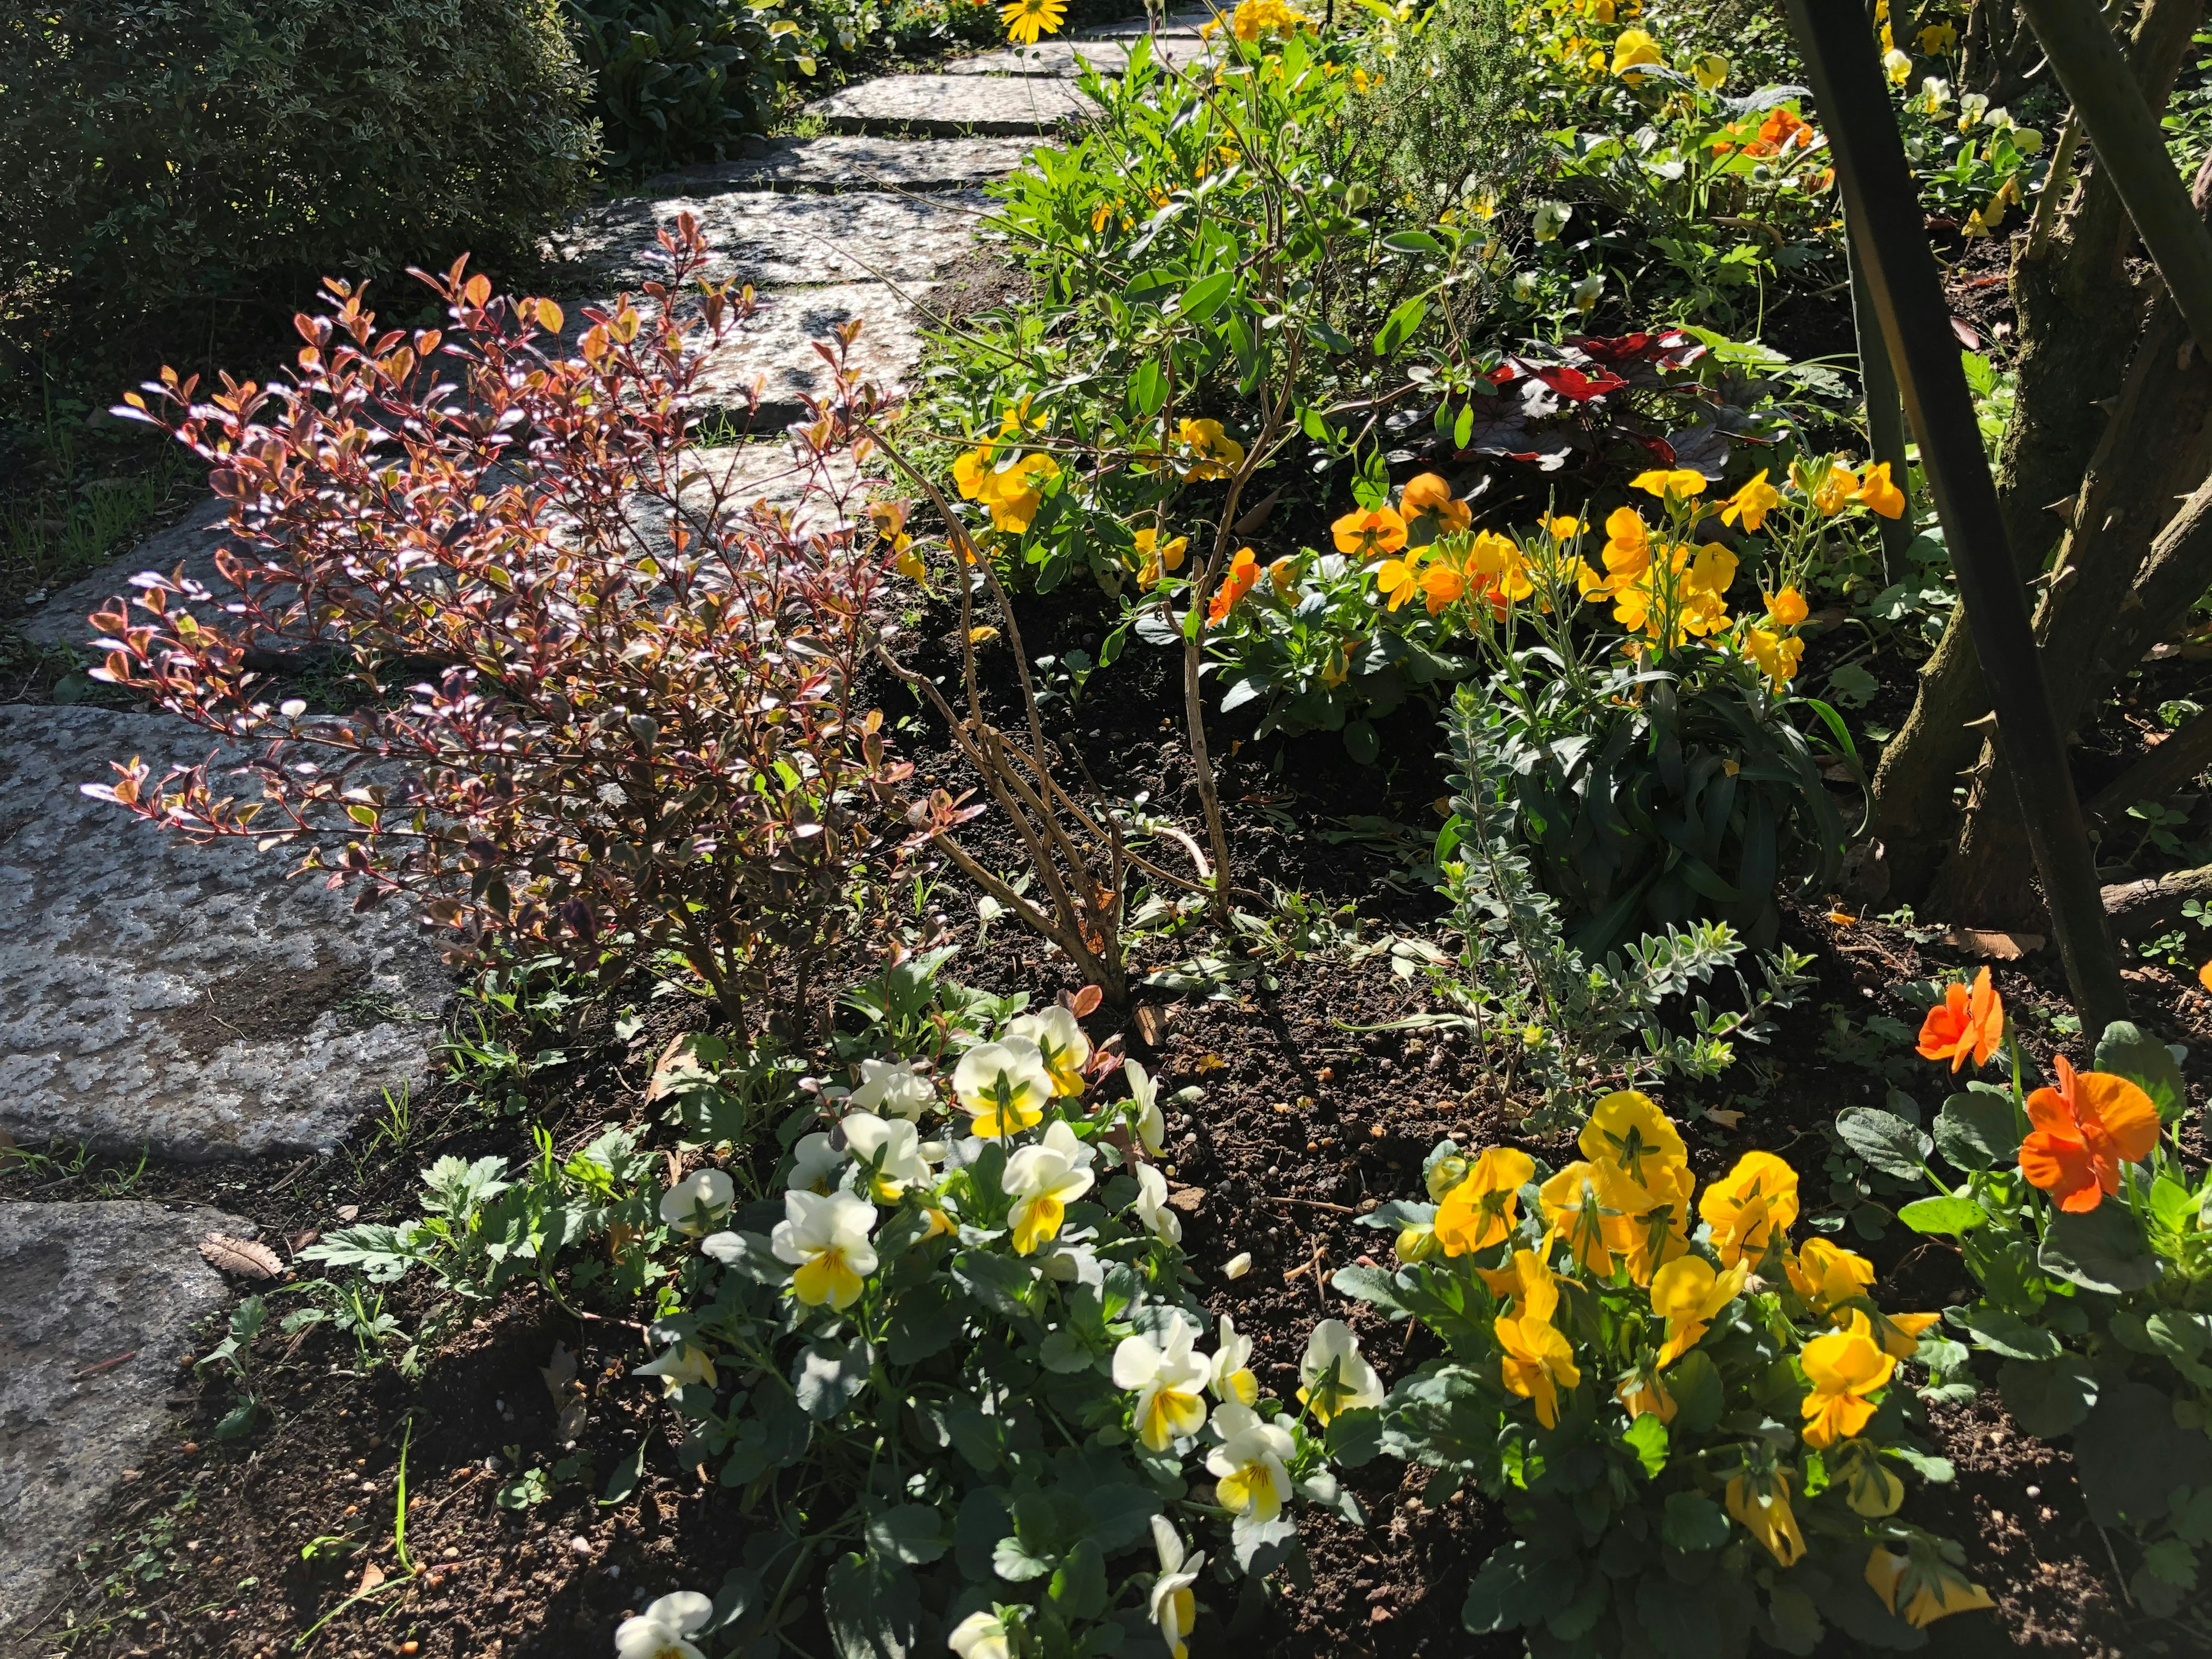
<path fill-rule="evenodd" d="M 2203 0 L 2148 0 L 2128 62 L 2152 108 L 2163 108 Z M 2044 568 L 2070 500 L 2106 429 L 2104 405 L 2121 389 L 2143 316 L 2143 279 L 2128 268 L 2135 230 L 2101 173 L 2090 173 L 2048 241 L 2013 243 L 2020 361 L 2013 420 L 1997 460 L 1997 509 L 2020 580 Z M 1882 843 L 1889 891 L 1918 902 L 1958 843 L 1955 787 L 1982 748 L 1989 714 L 1982 661 L 1960 606 L 1951 608 L 1920 690 L 1874 776 L 1871 832 Z"/>

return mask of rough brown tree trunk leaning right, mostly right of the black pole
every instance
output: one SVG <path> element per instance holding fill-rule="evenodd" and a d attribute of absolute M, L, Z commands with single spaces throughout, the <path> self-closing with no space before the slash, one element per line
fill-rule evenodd
<path fill-rule="evenodd" d="M 2194 199 L 2199 210 L 2212 206 L 2212 159 L 2197 175 Z M 2203 553 L 2212 535 L 2197 511 L 2208 473 L 2212 361 L 2161 294 L 2035 613 L 2044 684 L 2062 732 L 2073 734 L 2212 584 Z M 2033 880 L 2013 785 L 1995 743 L 1982 743 L 1966 818 L 1936 878 L 1933 907 L 1962 922 L 2026 922 L 2039 909 Z"/>

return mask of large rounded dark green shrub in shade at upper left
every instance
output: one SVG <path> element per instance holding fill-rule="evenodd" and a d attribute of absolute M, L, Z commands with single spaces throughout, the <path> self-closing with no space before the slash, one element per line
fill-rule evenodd
<path fill-rule="evenodd" d="M 584 97 L 557 0 L 13 9 L 0 312 L 197 341 L 325 274 L 526 254 L 588 184 Z"/>

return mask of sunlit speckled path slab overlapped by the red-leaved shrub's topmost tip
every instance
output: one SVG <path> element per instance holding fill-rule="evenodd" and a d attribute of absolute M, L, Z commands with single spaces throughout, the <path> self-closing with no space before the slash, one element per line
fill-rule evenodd
<path fill-rule="evenodd" d="M 622 197 L 577 215 L 560 248 L 593 288 L 637 288 L 666 272 L 655 232 L 690 212 L 712 250 L 706 274 L 714 281 L 927 283 L 967 252 L 975 221 L 989 210 L 975 190 Z"/>

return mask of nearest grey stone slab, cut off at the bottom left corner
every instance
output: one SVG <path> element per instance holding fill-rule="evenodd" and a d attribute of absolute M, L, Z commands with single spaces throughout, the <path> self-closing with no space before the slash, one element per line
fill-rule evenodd
<path fill-rule="evenodd" d="M 219 1210 L 0 1203 L 0 1648 L 49 1613 L 102 1504 L 168 1427 L 192 1327 L 232 1292 Z M 122 1360 L 122 1363 L 115 1363 Z"/>

